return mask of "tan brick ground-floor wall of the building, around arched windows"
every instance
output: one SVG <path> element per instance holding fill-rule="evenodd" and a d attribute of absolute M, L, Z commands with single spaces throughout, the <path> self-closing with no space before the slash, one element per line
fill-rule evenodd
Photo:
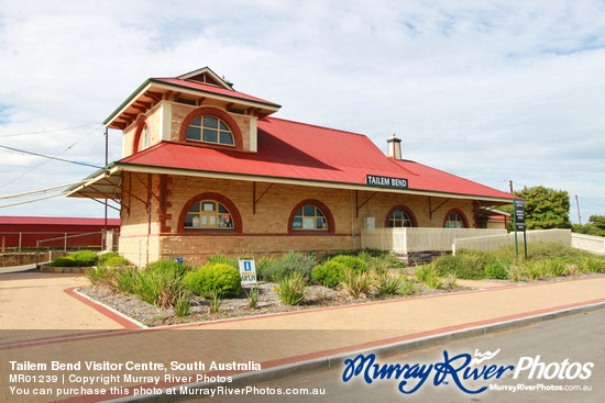
<path fill-rule="evenodd" d="M 374 192 L 360 191 L 355 201 L 355 192 L 350 190 L 277 183 L 270 188 L 270 183 L 256 182 L 254 203 L 254 183 L 251 181 L 125 173 L 123 186 L 145 203 L 124 197 L 120 253 L 142 265 L 166 257 L 202 261 L 217 253 L 274 255 L 287 250 L 354 249 L 360 247 L 363 217 L 374 216 L 376 227 L 383 227 L 388 212 L 399 204 L 414 213 L 418 226 L 441 227 L 452 208 L 462 211 L 471 226 L 474 223 L 471 200 L 432 198 L 431 217 L 428 197 L 377 192 L 360 209 L 358 216 L 355 203 L 361 205 Z M 201 193 L 218 193 L 228 199 L 241 216 L 241 232 L 180 231 L 182 213 L 187 202 Z M 307 199 L 318 200 L 329 209 L 334 222 L 331 233 L 290 234 L 288 220 L 296 205 Z"/>

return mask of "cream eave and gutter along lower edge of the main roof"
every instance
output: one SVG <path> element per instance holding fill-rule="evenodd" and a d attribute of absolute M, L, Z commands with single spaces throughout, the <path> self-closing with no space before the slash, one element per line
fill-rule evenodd
<path fill-rule="evenodd" d="M 184 168 L 170 168 L 170 167 L 157 167 L 150 165 L 135 165 L 128 163 L 113 163 L 107 169 L 102 169 L 94 173 L 90 179 L 66 191 L 66 197 L 72 198 L 96 198 L 96 199 L 120 199 L 121 198 L 121 182 L 123 172 L 140 172 L 140 173 L 157 173 L 157 175 L 176 175 L 197 178 L 215 178 L 223 180 L 242 180 L 250 182 L 266 182 L 266 183 L 282 183 L 282 184 L 295 184 L 307 186 L 314 188 L 328 188 L 328 189 L 344 189 L 344 190 L 361 190 L 397 194 L 416 194 L 435 198 L 449 198 L 449 199 L 464 199 L 482 201 L 491 204 L 510 204 L 515 199 L 495 198 L 477 194 L 463 194 L 440 192 L 433 190 L 424 189 L 392 189 L 375 187 L 364 183 L 345 183 L 345 182 L 330 182 L 321 180 L 297 179 L 297 178 L 284 178 L 284 177 L 271 177 L 271 176 L 257 176 L 246 173 L 230 173 L 230 172 L 217 172 L 206 170 L 194 170 Z"/>

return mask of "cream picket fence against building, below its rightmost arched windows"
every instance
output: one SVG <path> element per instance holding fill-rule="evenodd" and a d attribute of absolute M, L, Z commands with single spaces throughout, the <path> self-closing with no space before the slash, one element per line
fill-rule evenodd
<path fill-rule="evenodd" d="M 362 230 L 362 248 L 393 250 L 397 254 L 422 250 L 452 250 L 458 238 L 506 235 L 506 230 L 463 228 L 376 228 Z"/>

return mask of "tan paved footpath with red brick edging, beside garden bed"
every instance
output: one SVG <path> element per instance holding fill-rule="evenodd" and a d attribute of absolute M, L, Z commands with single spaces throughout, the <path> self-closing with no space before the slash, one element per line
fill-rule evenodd
<path fill-rule="evenodd" d="M 82 362 L 80 369 L 54 372 L 48 369 L 36 373 L 59 377 L 70 373 L 120 374 L 120 379 L 111 380 L 110 384 L 128 387 L 129 393 L 132 393 L 133 388 L 140 385 L 166 388 L 189 383 L 175 380 L 170 374 L 202 377 L 241 372 L 218 372 L 210 368 L 212 361 L 254 361 L 267 369 L 575 306 L 605 303 L 605 277 L 596 277 L 536 286 L 491 284 L 492 288 L 480 291 L 142 329 L 125 324 L 114 314 L 103 315 L 102 309 L 97 310 L 64 292 L 65 289 L 82 283 L 85 280 L 81 276 L 0 275 L 0 402 L 62 401 L 81 394 L 75 393 L 82 387 L 81 379 L 65 379 L 65 388 L 74 389 L 66 391 L 70 393 L 59 396 L 16 395 L 14 390 L 11 392 L 10 387 L 25 387 L 10 382 L 10 374 L 15 373 L 9 366 L 11 360 Z M 31 305 L 32 302 L 34 305 Z M 16 311 L 12 311 L 13 309 Z M 37 325 L 36 322 L 30 322 L 35 317 L 40 318 Z M 112 322 L 112 317 L 119 322 Z M 176 361 L 182 370 L 158 372 L 157 369 L 141 368 L 125 372 L 108 369 L 95 371 L 84 368 L 86 361 L 133 361 L 144 366 L 153 362 L 164 363 L 166 367 Z M 123 377 L 127 372 L 161 378 L 157 383 L 151 378 L 127 380 Z M 100 388 L 102 384 L 97 382 L 90 388 L 92 387 Z M 101 401 L 119 396 L 119 393 L 111 394 L 109 391 L 91 392 L 91 395 L 70 401 Z"/>

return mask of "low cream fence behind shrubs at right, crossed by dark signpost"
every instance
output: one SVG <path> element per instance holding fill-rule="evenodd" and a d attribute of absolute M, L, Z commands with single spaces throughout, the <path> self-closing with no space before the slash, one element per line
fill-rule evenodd
<path fill-rule="evenodd" d="M 517 233 L 519 243 L 524 242 L 524 234 Z M 559 242 L 571 246 L 571 230 L 534 230 L 527 232 L 527 243 L 532 242 Z M 453 242 L 452 253 L 460 249 L 495 250 L 503 246 L 515 244 L 515 233 L 460 238 Z"/>

